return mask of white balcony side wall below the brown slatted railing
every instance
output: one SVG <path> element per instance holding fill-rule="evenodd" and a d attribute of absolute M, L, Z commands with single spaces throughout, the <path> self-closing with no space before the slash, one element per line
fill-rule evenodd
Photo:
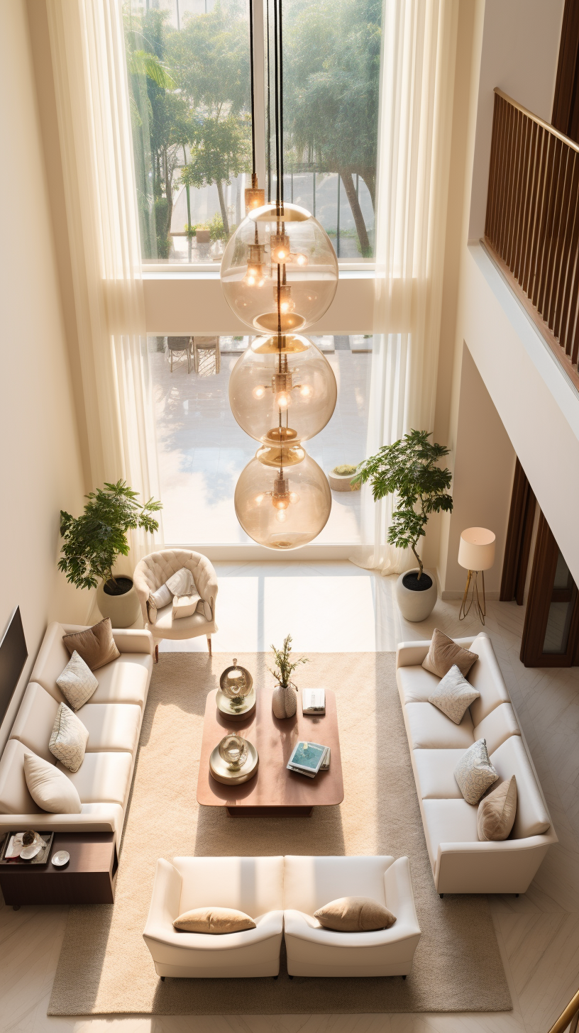
<path fill-rule="evenodd" d="M 579 584 L 579 395 L 481 245 L 464 249 L 458 322 Z M 457 461 L 460 448 L 457 435 Z"/>

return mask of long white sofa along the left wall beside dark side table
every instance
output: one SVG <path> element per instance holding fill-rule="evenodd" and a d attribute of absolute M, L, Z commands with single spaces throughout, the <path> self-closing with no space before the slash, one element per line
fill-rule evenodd
<path fill-rule="evenodd" d="M 57 622 L 47 629 L 0 758 L 0 837 L 12 828 L 32 827 L 114 832 L 117 844 L 121 838 L 153 669 L 153 639 L 148 631 L 113 630 L 121 655 L 95 671 L 98 688 L 77 712 L 89 739 L 83 763 L 72 774 L 57 763 L 49 740 L 58 706 L 66 702 L 56 684 L 70 659 L 62 636 L 82 630 L 84 626 Z M 81 797 L 80 814 L 51 814 L 36 806 L 24 777 L 26 752 L 56 763 L 73 782 Z"/>

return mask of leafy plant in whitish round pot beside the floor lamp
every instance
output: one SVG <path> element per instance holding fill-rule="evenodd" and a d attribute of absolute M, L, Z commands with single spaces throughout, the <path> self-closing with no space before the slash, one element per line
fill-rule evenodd
<path fill-rule="evenodd" d="M 398 606 L 407 621 L 424 621 L 434 608 L 436 580 L 425 571 L 417 545 L 430 514 L 452 512 L 453 507 L 448 492 L 451 471 L 438 465 L 449 449 L 429 441 L 430 436 L 427 431 L 410 431 L 400 441 L 383 445 L 362 463 L 355 478 L 361 484 L 370 481 L 376 502 L 396 495 L 388 540 L 399 549 L 412 549 L 418 563 L 400 574 L 396 584 Z"/>

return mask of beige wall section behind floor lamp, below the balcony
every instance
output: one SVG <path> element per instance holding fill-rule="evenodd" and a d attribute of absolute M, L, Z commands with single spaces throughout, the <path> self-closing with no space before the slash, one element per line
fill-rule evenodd
<path fill-rule="evenodd" d="M 450 518 L 443 598 L 462 596 L 465 571 L 458 565 L 458 546 L 460 533 L 467 527 L 487 527 L 496 535 L 494 566 L 485 572 L 485 588 L 490 598 L 498 598 L 515 458 L 509 435 L 464 345 L 454 462 L 454 509 Z"/>

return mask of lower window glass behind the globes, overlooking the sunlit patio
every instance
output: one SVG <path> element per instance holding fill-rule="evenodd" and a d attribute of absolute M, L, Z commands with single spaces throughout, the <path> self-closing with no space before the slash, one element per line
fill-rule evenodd
<path fill-rule="evenodd" d="M 248 337 L 150 337 L 164 538 L 171 544 L 250 542 L 240 527 L 234 492 L 258 443 L 236 422 L 230 374 Z M 371 339 L 314 337 L 334 370 L 338 402 L 328 426 L 307 442 L 329 473 L 366 456 Z M 196 351 L 196 355 L 195 355 Z M 360 540 L 360 493 L 332 492 L 322 543 Z"/>

